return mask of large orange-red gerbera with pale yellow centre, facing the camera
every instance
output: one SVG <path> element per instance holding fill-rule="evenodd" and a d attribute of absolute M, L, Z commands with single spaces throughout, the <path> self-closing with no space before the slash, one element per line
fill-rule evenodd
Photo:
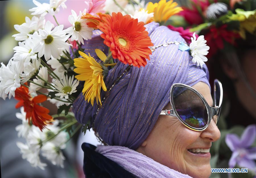
<path fill-rule="evenodd" d="M 145 31 L 144 22 L 131 18 L 130 15 L 123 16 L 122 13 L 106 15 L 97 26 L 103 34 L 104 44 L 110 47 L 114 59 L 137 67 L 145 66 L 146 59 L 150 60 L 152 54 L 149 46 L 153 46 L 148 32 Z"/>

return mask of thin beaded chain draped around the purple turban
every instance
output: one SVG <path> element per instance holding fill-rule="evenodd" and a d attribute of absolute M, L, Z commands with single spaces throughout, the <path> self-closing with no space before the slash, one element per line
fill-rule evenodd
<path fill-rule="evenodd" d="M 166 43 L 164 43 L 164 44 L 160 44 L 160 45 L 157 45 L 157 46 L 153 46 L 153 47 L 151 47 L 150 49 L 151 49 L 151 52 L 153 52 L 153 51 L 155 51 L 155 49 L 158 48 L 158 47 L 161 47 L 161 46 L 167 47 L 167 46 L 170 45 L 170 44 L 180 45 L 181 42 L 177 42 L 177 41 L 174 41 L 174 42 L 166 42 Z M 187 44 L 185 44 L 185 45 L 188 46 Z M 122 73 L 118 78 L 115 79 L 115 81 L 113 82 L 112 86 L 109 88 L 108 91 L 106 91 L 105 96 L 104 96 L 104 98 L 102 99 L 102 102 L 105 100 L 106 97 L 109 96 L 110 90 L 115 86 L 115 84 L 119 81 L 119 79 L 120 79 L 127 71 L 129 71 L 129 70 L 131 69 L 131 66 L 132 66 L 132 64 L 129 65 L 129 66 L 127 66 L 126 69 L 125 69 L 125 71 L 123 71 L 123 73 Z M 98 114 L 98 112 L 99 112 L 99 110 L 100 110 L 101 107 L 102 107 L 102 105 L 99 105 L 99 106 L 98 106 L 96 115 Z M 95 122 L 95 119 L 94 119 L 94 122 Z M 100 135 L 98 134 L 98 132 L 97 132 L 96 129 L 94 128 L 94 122 L 93 122 L 92 128 L 93 128 L 94 134 L 95 134 L 95 136 L 96 136 L 98 142 L 100 142 L 100 143 L 103 144 L 103 145 L 108 145 L 106 142 L 104 142 L 104 141 L 102 140 L 102 138 L 100 138 Z"/>

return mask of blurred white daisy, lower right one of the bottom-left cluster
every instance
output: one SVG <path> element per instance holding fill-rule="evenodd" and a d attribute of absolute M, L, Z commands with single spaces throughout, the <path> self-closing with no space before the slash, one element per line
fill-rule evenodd
<path fill-rule="evenodd" d="M 60 165 L 62 168 L 64 168 L 64 160 L 65 157 L 63 156 L 63 153 L 61 149 L 65 149 L 65 144 L 61 147 L 55 146 L 51 142 L 47 142 L 42 147 L 42 156 L 45 156 L 48 160 L 50 160 L 53 165 Z"/>

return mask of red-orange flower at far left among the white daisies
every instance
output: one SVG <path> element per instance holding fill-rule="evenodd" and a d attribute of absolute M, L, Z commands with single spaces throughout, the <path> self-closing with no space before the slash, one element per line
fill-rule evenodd
<path fill-rule="evenodd" d="M 23 106 L 26 112 L 26 119 L 29 122 L 32 120 L 32 124 L 39 127 L 41 131 L 47 124 L 51 124 L 53 121 L 53 118 L 48 114 L 50 112 L 49 109 L 38 105 L 47 100 L 45 95 L 38 95 L 32 98 L 28 94 L 28 88 L 21 86 L 15 90 L 15 99 L 19 100 L 15 107 Z"/>

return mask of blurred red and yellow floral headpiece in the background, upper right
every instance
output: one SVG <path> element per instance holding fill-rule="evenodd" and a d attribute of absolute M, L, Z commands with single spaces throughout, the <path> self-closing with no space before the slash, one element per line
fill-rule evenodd
<path fill-rule="evenodd" d="M 187 32 L 204 35 L 210 46 L 207 57 L 219 50 L 228 51 L 237 45 L 236 40 L 245 40 L 246 33 L 256 36 L 255 1 L 190 0 L 182 8 L 183 11 L 172 19 L 172 24 L 175 26 L 177 20 L 182 21 L 179 25 L 186 28 Z"/>

